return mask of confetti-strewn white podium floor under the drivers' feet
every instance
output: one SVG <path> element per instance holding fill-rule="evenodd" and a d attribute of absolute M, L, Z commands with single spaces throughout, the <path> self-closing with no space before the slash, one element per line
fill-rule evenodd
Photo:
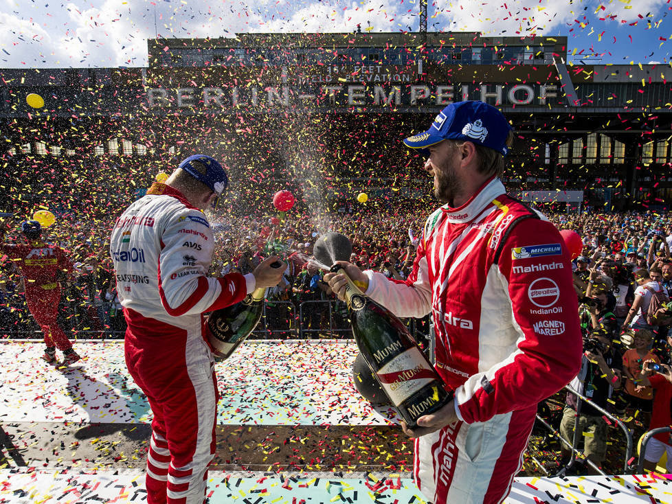
<path fill-rule="evenodd" d="M 144 502 L 151 412 L 123 342 L 78 342 L 55 369 L 43 344 L 0 345 L 0 503 Z M 352 385 L 357 347 L 251 341 L 216 364 L 217 503 L 423 503 L 412 442 Z M 665 476 L 517 478 L 506 503 L 672 503 Z"/>

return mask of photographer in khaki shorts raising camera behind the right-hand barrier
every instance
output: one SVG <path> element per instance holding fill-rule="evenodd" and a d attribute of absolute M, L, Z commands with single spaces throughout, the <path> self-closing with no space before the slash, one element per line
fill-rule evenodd
<path fill-rule="evenodd" d="M 570 382 L 570 386 L 590 398 L 594 404 L 606 408 L 607 400 L 611 398 L 614 390 L 620 389 L 622 369 L 620 354 L 612 349 L 612 337 L 603 328 L 596 328 L 583 340 L 581 371 Z M 577 415 L 578 400 L 575 394 L 567 393 L 567 404 L 563 410 L 560 433 L 572 443 L 574 428 L 579 428 L 579 446 L 581 446 L 581 439 L 585 439 L 583 453 L 587 459 L 599 467 L 607 453 L 607 422 L 600 411 L 586 402 L 581 404 L 581 413 Z M 586 435 L 581 435 L 581 433 L 586 433 Z M 564 444 L 561 454 L 563 459 L 570 457 L 570 449 Z M 590 466 L 588 472 L 597 474 Z"/>

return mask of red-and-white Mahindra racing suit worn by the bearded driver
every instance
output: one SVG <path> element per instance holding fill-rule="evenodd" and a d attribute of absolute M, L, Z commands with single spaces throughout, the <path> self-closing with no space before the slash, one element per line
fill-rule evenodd
<path fill-rule="evenodd" d="M 366 294 L 399 317 L 432 312 L 436 369 L 459 422 L 415 441 L 434 503 L 501 503 L 522 466 L 537 403 L 581 365 L 572 268 L 557 229 L 491 179 L 427 220 L 405 282 L 367 271 Z"/>

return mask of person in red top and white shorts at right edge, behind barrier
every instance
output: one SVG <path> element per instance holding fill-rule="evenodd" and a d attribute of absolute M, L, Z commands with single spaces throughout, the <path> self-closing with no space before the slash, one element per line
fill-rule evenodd
<path fill-rule="evenodd" d="M 645 360 L 643 369 L 638 376 L 641 385 L 653 388 L 653 412 L 649 431 L 658 427 L 669 427 L 672 424 L 672 369 L 669 365 L 658 364 L 653 360 Z M 671 433 L 660 433 L 649 439 L 644 455 L 644 468 L 656 470 L 662 454 L 667 451 L 667 472 L 672 472 L 672 436 Z"/>

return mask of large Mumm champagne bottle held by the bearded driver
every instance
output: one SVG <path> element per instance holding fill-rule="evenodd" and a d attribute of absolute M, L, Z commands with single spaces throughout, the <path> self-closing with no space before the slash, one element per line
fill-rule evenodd
<path fill-rule="evenodd" d="M 345 274 L 339 264 L 331 271 Z M 445 389 L 406 326 L 346 278 L 346 302 L 357 347 L 407 426 L 416 428 L 419 417 L 443 408 L 453 393 Z"/>

